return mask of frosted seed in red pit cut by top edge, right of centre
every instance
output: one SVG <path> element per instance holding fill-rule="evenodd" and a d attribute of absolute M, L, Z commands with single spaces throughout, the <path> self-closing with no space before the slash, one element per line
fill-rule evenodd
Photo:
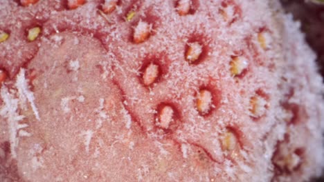
<path fill-rule="evenodd" d="M 197 0 L 179 0 L 176 2 L 176 10 L 180 16 L 187 14 L 195 14 L 199 8 L 199 1 Z"/>

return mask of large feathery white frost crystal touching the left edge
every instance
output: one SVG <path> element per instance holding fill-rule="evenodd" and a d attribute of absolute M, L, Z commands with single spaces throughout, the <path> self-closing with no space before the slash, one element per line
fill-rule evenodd
<path fill-rule="evenodd" d="M 18 99 L 14 99 L 12 94 L 8 92 L 8 88 L 5 85 L 2 85 L 1 88 L 1 99 L 3 100 L 4 105 L 0 110 L 0 115 L 7 119 L 8 121 L 8 130 L 10 133 L 10 152 L 12 154 L 12 158 L 17 158 L 16 148 L 19 143 L 19 139 L 17 137 L 17 132 L 19 129 L 26 128 L 28 125 L 19 124 L 19 121 L 24 119 L 24 116 L 18 114 Z M 26 135 L 26 132 L 24 132 Z M 28 134 L 27 134 L 28 135 Z"/>

